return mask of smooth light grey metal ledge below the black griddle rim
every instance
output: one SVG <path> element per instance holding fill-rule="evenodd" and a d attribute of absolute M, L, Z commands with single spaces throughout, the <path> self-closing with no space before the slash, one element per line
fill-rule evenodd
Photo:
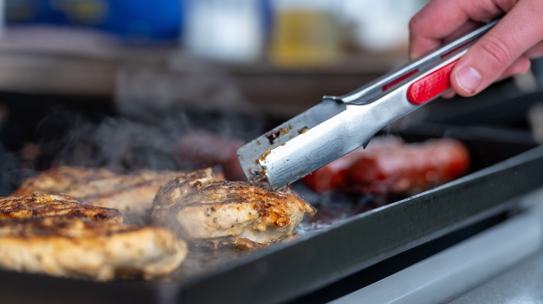
<path fill-rule="evenodd" d="M 541 251 L 542 244 L 542 214 L 529 210 L 331 303 L 443 303 Z"/>

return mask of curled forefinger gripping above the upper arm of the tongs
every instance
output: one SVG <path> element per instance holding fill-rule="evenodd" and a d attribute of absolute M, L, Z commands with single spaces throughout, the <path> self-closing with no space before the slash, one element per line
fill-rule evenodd
<path fill-rule="evenodd" d="M 432 0 L 409 22 L 409 54 L 411 58 L 441 47 L 443 39 L 476 22 L 494 19 L 510 10 L 515 0 L 500 1 Z M 467 25 L 466 25 L 467 24 Z"/>

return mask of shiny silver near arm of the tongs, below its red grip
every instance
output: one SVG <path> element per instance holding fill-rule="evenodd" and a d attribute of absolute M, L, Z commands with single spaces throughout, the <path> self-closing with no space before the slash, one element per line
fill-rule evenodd
<path fill-rule="evenodd" d="M 437 69 L 460 56 L 462 53 L 445 60 Z M 406 98 L 407 90 L 414 81 L 416 79 L 372 103 L 347 104 L 347 110 L 258 158 L 270 187 L 281 189 L 354 149 L 365 146 L 392 121 L 420 108 L 421 105 L 414 105 Z"/>

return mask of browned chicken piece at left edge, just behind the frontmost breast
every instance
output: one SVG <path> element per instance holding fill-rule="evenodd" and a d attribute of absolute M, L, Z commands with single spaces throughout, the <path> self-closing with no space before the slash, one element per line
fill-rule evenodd
<path fill-rule="evenodd" d="M 97 221 L 123 223 L 123 215 L 116 209 L 95 207 L 68 196 L 33 194 L 31 196 L 0 197 L 0 219 L 29 217 L 80 217 Z"/>

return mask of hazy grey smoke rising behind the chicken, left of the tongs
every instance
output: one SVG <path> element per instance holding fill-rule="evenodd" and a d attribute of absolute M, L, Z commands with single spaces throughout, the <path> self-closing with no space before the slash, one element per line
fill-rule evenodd
<path fill-rule="evenodd" d="M 192 59 L 119 69 L 114 117 L 55 107 L 38 127 L 40 167 L 237 171 L 235 150 L 262 133 L 265 119 L 228 74 Z"/>

